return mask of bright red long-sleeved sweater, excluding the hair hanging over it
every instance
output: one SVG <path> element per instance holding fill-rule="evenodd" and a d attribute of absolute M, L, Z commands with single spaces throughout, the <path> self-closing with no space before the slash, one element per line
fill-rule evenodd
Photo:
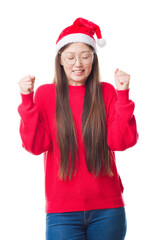
<path fill-rule="evenodd" d="M 134 102 L 129 100 L 129 90 L 115 90 L 101 83 L 106 107 L 107 142 L 114 156 L 113 177 L 95 178 L 85 163 L 84 145 L 81 145 L 81 118 L 86 85 L 69 85 L 69 100 L 73 113 L 79 151 L 79 166 L 72 180 L 58 179 L 59 147 L 56 142 L 55 84 L 40 86 L 33 97 L 21 94 L 18 107 L 21 116 L 20 135 L 22 146 L 30 153 L 44 153 L 45 198 L 47 213 L 87 211 L 92 209 L 124 206 L 123 186 L 117 172 L 114 151 L 123 151 L 136 144 L 138 133 L 133 115 Z"/>

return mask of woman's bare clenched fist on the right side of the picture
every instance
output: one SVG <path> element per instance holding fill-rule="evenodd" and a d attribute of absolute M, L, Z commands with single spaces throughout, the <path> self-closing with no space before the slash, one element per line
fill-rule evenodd
<path fill-rule="evenodd" d="M 118 68 L 114 72 L 115 84 L 117 90 L 127 90 L 129 89 L 130 75 L 119 70 Z"/>

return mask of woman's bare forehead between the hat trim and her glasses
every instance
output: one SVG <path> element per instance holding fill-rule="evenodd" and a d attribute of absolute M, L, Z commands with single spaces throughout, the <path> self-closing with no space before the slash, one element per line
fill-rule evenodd
<path fill-rule="evenodd" d="M 63 52 L 64 53 L 67 53 L 67 52 L 81 53 L 81 52 L 90 51 L 90 50 L 91 49 L 87 44 L 77 42 L 77 43 L 70 44 Z"/>

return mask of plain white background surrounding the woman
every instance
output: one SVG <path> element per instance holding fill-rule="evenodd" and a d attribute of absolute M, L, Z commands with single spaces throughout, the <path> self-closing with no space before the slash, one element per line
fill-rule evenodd
<path fill-rule="evenodd" d="M 139 140 L 116 152 L 125 187 L 126 240 L 156 239 L 154 0 L 1 1 L 0 239 L 45 239 L 43 155 L 31 155 L 21 146 L 18 81 L 35 75 L 35 90 L 53 81 L 55 42 L 77 17 L 98 24 L 107 41 L 98 48 L 101 80 L 115 86 L 117 67 L 131 75 Z"/>

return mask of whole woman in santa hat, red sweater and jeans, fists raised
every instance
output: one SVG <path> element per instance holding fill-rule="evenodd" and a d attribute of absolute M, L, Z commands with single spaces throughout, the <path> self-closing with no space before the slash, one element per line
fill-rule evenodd
<path fill-rule="evenodd" d="M 32 154 L 44 153 L 46 239 L 122 240 L 123 185 L 114 151 L 136 144 L 130 76 L 116 69 L 114 87 L 100 82 L 100 28 L 75 20 L 56 42 L 54 83 L 34 94 L 34 76 L 19 81 L 20 135 Z"/>

